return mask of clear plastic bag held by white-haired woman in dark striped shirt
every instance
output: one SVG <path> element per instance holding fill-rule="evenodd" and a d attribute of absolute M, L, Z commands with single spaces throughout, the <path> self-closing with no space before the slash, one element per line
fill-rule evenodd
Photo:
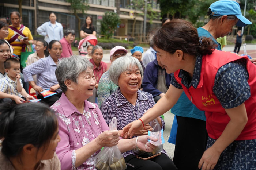
<path fill-rule="evenodd" d="M 149 125 L 153 128 L 151 132 L 159 132 L 162 129 L 157 119 L 154 119 L 153 121 L 151 121 Z M 152 152 L 146 152 L 137 148 L 134 149 L 133 152 L 137 155 L 155 155 L 161 152 L 162 150 L 163 150 L 163 145 L 161 144 L 159 146 L 156 146 Z"/>

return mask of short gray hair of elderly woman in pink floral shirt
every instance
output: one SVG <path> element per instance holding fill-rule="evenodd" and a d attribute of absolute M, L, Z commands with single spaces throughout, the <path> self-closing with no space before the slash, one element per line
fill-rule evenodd
<path fill-rule="evenodd" d="M 88 68 L 93 69 L 93 64 L 86 57 L 81 55 L 72 55 L 71 57 L 62 58 L 55 71 L 61 90 L 63 92 L 68 90 L 64 83 L 66 80 L 71 80 L 77 84 L 79 74 L 86 71 Z"/>

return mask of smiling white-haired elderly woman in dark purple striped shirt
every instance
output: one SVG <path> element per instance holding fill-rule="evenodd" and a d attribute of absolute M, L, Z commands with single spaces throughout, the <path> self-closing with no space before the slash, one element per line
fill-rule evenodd
<path fill-rule="evenodd" d="M 135 57 L 125 56 L 116 59 L 109 69 L 110 79 L 119 86 L 119 88 L 101 105 L 101 112 L 107 124 L 113 117 L 117 118 L 117 129 L 122 130 L 127 124 L 143 116 L 144 110 L 152 108 L 155 104 L 154 98 L 150 93 L 139 90 L 142 84 L 143 69 L 139 60 Z M 162 117 L 157 118 L 159 124 L 164 129 L 165 122 Z M 140 130 L 135 135 L 141 136 L 147 134 L 152 128 L 147 124 L 146 130 Z M 133 136 L 135 138 L 136 136 Z M 163 154 L 148 160 L 136 158 L 132 150 L 123 153 L 127 170 L 176 170 L 172 160 L 167 157 L 166 151 Z"/>

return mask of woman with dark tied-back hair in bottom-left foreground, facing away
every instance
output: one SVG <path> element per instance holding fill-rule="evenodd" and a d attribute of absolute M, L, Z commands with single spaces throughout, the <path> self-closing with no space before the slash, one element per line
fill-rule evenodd
<path fill-rule="evenodd" d="M 1 170 L 60 170 L 57 117 L 42 103 L 0 105 Z"/>

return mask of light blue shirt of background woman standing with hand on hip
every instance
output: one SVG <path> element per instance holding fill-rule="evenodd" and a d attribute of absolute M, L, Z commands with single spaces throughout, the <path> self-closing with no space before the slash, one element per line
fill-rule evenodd
<path fill-rule="evenodd" d="M 51 22 L 48 21 L 37 28 L 37 32 L 39 35 L 48 35 L 48 38 L 45 38 L 48 44 L 52 40 L 60 41 L 63 38 L 63 27 L 61 23 L 58 23 L 57 21 L 55 23 L 56 24 L 53 27 L 53 24 L 51 24 Z"/>

